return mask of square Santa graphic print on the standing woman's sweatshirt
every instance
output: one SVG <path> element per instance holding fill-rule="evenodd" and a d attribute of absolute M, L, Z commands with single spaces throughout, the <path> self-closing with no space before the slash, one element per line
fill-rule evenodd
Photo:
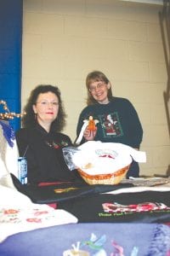
<path fill-rule="evenodd" d="M 123 136 L 122 125 L 117 112 L 99 115 L 104 137 Z"/>

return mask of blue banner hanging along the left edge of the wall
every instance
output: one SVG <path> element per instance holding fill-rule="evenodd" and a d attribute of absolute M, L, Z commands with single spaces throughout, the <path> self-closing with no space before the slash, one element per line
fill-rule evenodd
<path fill-rule="evenodd" d="M 23 0 L 0 0 L 0 100 L 20 113 Z M 1 106 L 0 111 L 3 111 Z M 14 131 L 20 119 L 10 121 Z"/>

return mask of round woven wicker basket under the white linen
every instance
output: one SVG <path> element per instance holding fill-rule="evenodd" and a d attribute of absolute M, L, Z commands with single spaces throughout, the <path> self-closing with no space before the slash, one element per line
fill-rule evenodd
<path fill-rule="evenodd" d="M 122 181 L 122 178 L 125 177 L 129 166 L 125 166 L 122 169 L 109 174 L 97 174 L 89 175 L 86 172 L 83 172 L 81 169 L 78 169 L 79 174 L 85 180 L 86 183 L 90 185 L 94 184 L 105 184 L 105 185 L 116 185 Z"/>

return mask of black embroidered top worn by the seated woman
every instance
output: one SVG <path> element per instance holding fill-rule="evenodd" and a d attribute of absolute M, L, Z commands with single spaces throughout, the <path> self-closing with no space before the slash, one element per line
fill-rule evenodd
<path fill-rule="evenodd" d="M 20 156 L 25 155 L 28 183 L 75 181 L 76 171 L 65 164 L 62 148 L 71 146 L 70 137 L 54 131 L 47 132 L 41 125 L 22 128 L 16 132 Z"/>

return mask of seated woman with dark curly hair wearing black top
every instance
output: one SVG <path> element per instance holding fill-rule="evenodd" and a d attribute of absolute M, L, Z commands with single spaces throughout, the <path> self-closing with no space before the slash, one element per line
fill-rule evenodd
<path fill-rule="evenodd" d="M 28 183 L 76 181 L 77 171 L 65 164 L 62 148 L 71 146 L 70 137 L 61 133 L 65 126 L 65 111 L 58 87 L 38 85 L 31 91 L 16 132 L 20 156 L 26 156 Z"/>

